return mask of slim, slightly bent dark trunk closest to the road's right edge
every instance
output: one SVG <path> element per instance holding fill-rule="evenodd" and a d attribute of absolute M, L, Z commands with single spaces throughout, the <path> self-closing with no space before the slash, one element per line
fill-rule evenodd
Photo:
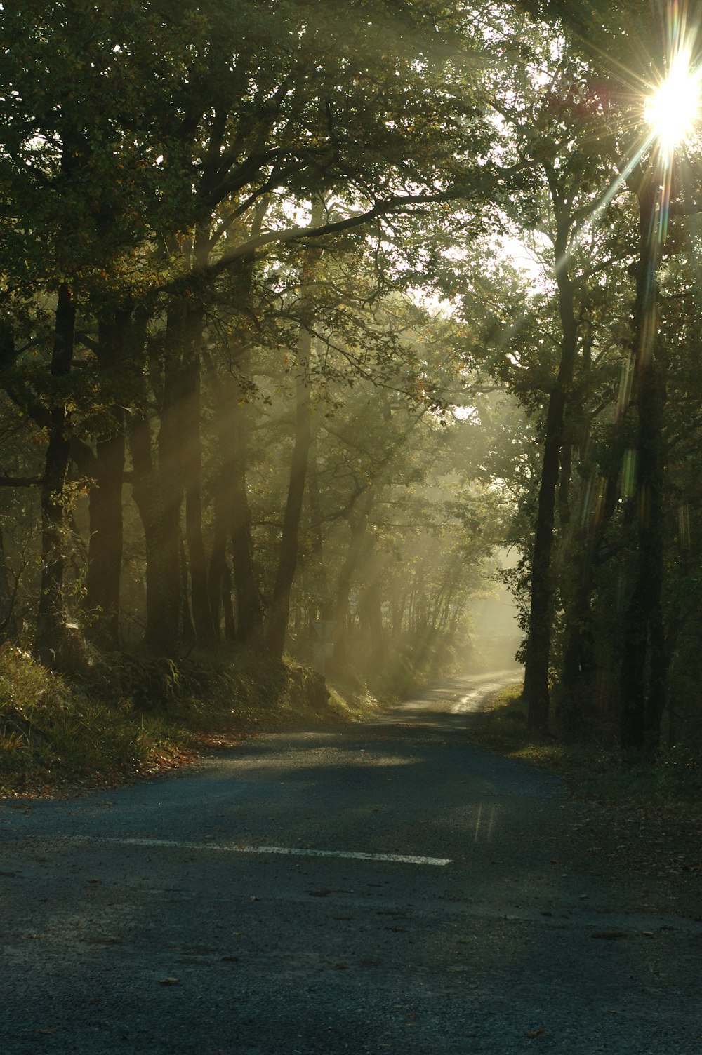
<path fill-rule="evenodd" d="M 552 179 L 549 179 L 553 184 Z M 554 206 L 556 192 L 551 188 Z M 570 216 L 556 208 L 555 280 L 558 288 L 562 343 L 558 375 L 549 398 L 546 420 L 546 443 L 538 488 L 536 531 L 531 560 L 531 606 L 525 661 L 525 696 L 528 726 L 533 732 L 546 732 L 549 725 L 549 661 L 553 619 L 553 582 L 551 551 L 564 417 L 568 388 L 573 379 L 577 349 L 577 326 L 573 304 L 573 286 L 568 274 L 566 250 Z"/>

